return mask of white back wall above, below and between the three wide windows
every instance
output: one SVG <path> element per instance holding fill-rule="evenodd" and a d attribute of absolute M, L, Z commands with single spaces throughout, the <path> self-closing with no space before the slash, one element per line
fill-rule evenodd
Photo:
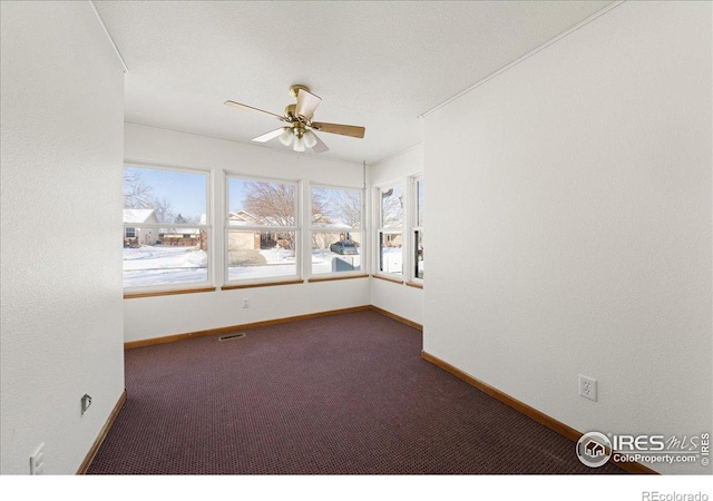
<path fill-rule="evenodd" d="M 222 248 L 224 171 L 361 188 L 363 168 L 313 155 L 126 125 L 125 158 L 131 161 L 211 169 L 215 198 L 214 250 Z M 223 279 L 222 253 L 214 254 L 215 283 Z M 243 298 L 250 297 L 250 308 Z M 255 287 L 125 299 L 125 341 L 240 325 L 369 304 L 369 279 Z"/>

